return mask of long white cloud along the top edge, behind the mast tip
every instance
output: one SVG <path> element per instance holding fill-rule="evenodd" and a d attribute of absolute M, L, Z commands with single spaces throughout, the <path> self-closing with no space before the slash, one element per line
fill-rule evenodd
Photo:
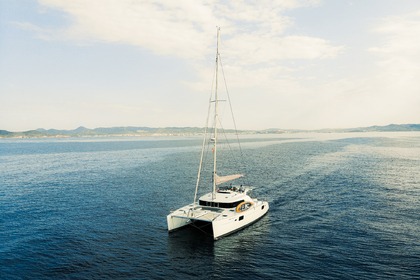
<path fill-rule="evenodd" d="M 283 34 L 293 22 L 282 12 L 316 2 L 40 1 L 70 16 L 69 26 L 55 30 L 57 38 L 132 44 L 158 55 L 197 60 L 212 53 L 218 25 L 226 36 L 224 48 L 252 57 L 255 63 L 336 55 L 338 48 L 327 40 Z M 35 31 L 41 32 L 39 29 Z M 53 36 L 52 32 L 43 34 Z"/>

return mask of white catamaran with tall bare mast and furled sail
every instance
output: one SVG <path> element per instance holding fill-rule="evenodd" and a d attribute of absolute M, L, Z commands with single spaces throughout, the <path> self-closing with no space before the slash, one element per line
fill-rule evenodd
<path fill-rule="evenodd" d="M 200 164 L 195 187 L 194 200 L 191 204 L 172 211 L 167 216 L 168 231 L 172 232 L 186 226 L 192 226 L 204 233 L 207 233 L 217 240 L 223 236 L 234 233 L 262 218 L 268 211 L 267 201 L 259 200 L 252 195 L 252 189 L 244 185 L 227 184 L 233 180 L 243 177 L 243 174 L 219 175 L 218 170 L 218 144 L 219 132 L 223 131 L 220 125 L 219 100 L 218 96 L 218 72 L 221 65 L 219 54 L 220 28 L 217 28 L 216 47 L 216 69 L 215 87 L 212 90 L 209 101 L 209 112 L 207 117 L 204 140 L 201 150 Z M 223 71 L 222 71 L 223 72 Z M 230 98 L 229 98 L 230 100 Z M 210 117 L 210 115 L 213 115 Z M 209 120 L 213 120 L 212 127 L 209 127 Z M 234 122 L 235 131 L 236 124 Z M 220 131 L 219 131 L 220 130 Z M 237 134 L 236 134 L 237 135 Z M 227 141 L 227 138 L 225 138 Z M 198 197 L 198 189 L 201 184 L 203 171 L 203 159 L 206 147 L 211 147 L 212 168 L 210 168 L 211 180 L 208 185 L 212 191 Z M 207 148 L 208 150 L 208 148 Z"/>

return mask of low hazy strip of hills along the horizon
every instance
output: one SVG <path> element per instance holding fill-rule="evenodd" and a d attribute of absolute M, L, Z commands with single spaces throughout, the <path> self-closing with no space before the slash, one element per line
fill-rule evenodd
<path fill-rule="evenodd" d="M 103 137 L 103 136 L 170 136 L 170 135 L 199 135 L 204 128 L 199 127 L 98 127 L 94 129 L 80 126 L 73 130 L 43 129 L 22 132 L 0 130 L 0 138 L 42 138 L 42 137 Z M 225 130 L 233 133 L 233 130 Z M 369 126 L 347 129 L 321 129 L 321 130 L 291 130 L 291 129 L 266 129 L 266 130 L 241 130 L 238 133 L 254 134 L 280 134 L 296 132 L 374 132 L 374 131 L 420 131 L 420 124 L 389 124 L 386 126 Z"/>

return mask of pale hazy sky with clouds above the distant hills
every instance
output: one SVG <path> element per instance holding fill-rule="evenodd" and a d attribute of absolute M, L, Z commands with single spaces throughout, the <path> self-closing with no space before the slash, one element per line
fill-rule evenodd
<path fill-rule="evenodd" d="M 420 123 L 420 1 L 0 0 L 0 129 Z"/>

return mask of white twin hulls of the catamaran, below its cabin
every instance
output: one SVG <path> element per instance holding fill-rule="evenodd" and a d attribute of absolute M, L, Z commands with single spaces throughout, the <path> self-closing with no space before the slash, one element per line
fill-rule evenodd
<path fill-rule="evenodd" d="M 238 231 L 263 217 L 269 209 L 266 201 L 255 201 L 245 211 L 233 209 L 196 206 L 184 206 L 167 216 L 169 232 L 185 226 L 194 226 L 210 233 L 215 240 Z"/>

